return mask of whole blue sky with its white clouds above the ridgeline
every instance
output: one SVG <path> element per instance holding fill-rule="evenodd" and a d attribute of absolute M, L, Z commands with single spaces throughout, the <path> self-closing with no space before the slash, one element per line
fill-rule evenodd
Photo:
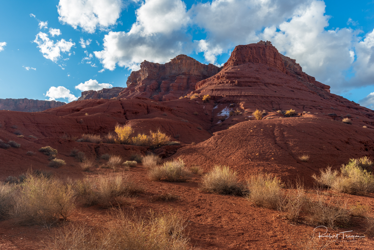
<path fill-rule="evenodd" d="M 143 60 L 220 65 L 236 45 L 271 40 L 332 93 L 374 108 L 373 0 L 13 0 L 0 22 L 0 98 L 68 102 L 126 87 Z"/>

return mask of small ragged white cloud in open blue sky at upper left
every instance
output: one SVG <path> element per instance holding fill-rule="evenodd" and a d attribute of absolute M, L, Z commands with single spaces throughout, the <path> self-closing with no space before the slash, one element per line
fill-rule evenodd
<path fill-rule="evenodd" d="M 50 40 L 48 35 L 43 32 L 39 32 L 34 40 L 40 52 L 42 52 L 43 57 L 56 62 L 59 57 L 61 57 L 61 52 L 69 52 L 71 47 L 75 43 L 71 41 L 66 41 L 65 39 L 57 40 L 56 43 Z"/>

